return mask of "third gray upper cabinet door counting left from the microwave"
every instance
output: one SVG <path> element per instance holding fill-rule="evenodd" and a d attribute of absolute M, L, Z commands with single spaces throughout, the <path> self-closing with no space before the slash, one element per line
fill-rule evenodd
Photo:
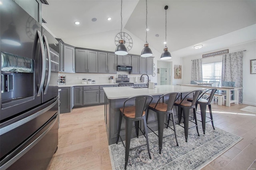
<path fill-rule="evenodd" d="M 98 51 L 87 50 L 87 73 L 98 73 Z"/>

